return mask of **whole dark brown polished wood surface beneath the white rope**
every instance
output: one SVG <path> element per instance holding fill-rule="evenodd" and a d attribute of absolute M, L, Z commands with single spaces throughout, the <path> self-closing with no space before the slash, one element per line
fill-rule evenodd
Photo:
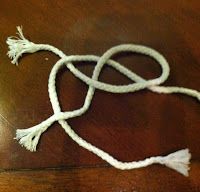
<path fill-rule="evenodd" d="M 164 85 L 199 90 L 200 3 L 191 1 L 0 1 L 0 191 L 200 191 L 200 106 L 190 97 L 143 90 L 129 94 L 96 91 L 89 111 L 69 120 L 83 138 L 123 161 L 190 148 L 188 178 L 165 167 L 119 171 L 74 143 L 55 123 L 31 153 L 13 140 L 52 115 L 49 72 L 58 57 L 48 52 L 24 56 L 19 67 L 6 56 L 6 38 L 22 25 L 36 43 L 66 54 L 101 55 L 121 43 L 160 51 L 171 74 Z M 48 58 L 46 60 L 45 58 Z M 116 58 L 147 79 L 160 75 L 153 60 Z M 91 75 L 94 63 L 79 63 Z M 100 77 L 113 84 L 130 80 L 105 67 Z M 63 111 L 79 108 L 87 86 L 66 69 L 57 80 Z"/>

